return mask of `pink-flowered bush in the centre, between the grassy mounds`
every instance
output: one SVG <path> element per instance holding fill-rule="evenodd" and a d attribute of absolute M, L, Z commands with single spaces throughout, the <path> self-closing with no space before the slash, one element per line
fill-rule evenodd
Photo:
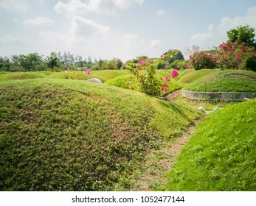
<path fill-rule="evenodd" d="M 156 76 L 156 69 L 159 63 L 165 60 L 165 55 L 161 55 L 159 59 L 153 60 L 153 63 L 146 65 L 142 60 L 138 63 L 130 63 L 128 68 L 134 74 L 135 82 L 139 84 L 140 91 L 147 93 L 148 95 L 158 96 L 161 93 L 166 93 L 169 87 L 170 78 L 159 78 Z M 145 70 L 145 73 L 140 72 Z M 173 71 L 173 78 L 178 74 L 177 71 Z M 130 84 L 130 87 L 132 85 Z"/>

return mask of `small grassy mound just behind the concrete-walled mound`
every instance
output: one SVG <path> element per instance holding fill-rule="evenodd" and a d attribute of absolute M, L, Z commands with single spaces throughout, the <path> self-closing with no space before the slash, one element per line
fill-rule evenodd
<path fill-rule="evenodd" d="M 196 79 L 207 76 L 208 74 L 211 74 L 215 71 L 216 70 L 214 69 L 201 69 L 196 71 L 189 69 L 187 70 L 187 74 L 182 75 L 181 79 L 179 79 L 179 82 L 188 84 L 194 82 Z"/>

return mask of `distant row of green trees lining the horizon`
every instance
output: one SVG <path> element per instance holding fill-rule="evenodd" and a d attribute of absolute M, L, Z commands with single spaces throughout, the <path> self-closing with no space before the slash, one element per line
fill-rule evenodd
<path fill-rule="evenodd" d="M 159 68 L 175 68 L 182 69 L 186 66 L 181 51 L 169 50 L 165 52 L 171 53 L 170 57 Z M 128 60 L 122 63 L 122 60 L 114 58 L 112 60 L 91 60 L 91 57 L 83 58 L 81 55 L 74 55 L 68 52 L 51 52 L 49 56 L 42 56 L 38 53 L 12 55 L 11 57 L 0 57 L 0 71 L 64 71 L 66 69 L 77 70 L 118 70 L 126 69 L 126 64 L 137 63 L 139 60 L 145 60 L 148 63 L 153 61 L 153 58 L 147 56 L 136 57 L 133 60 Z"/>

